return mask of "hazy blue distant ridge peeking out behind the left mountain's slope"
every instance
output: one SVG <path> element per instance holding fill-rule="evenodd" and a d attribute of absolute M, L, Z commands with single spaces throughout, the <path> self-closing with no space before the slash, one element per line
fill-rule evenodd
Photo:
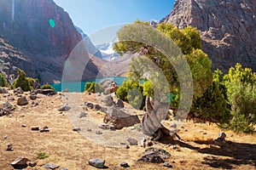
<path fill-rule="evenodd" d="M 84 41 L 84 46 L 85 46 L 86 50 L 90 54 L 93 54 L 96 57 L 102 58 L 101 51 L 94 46 L 94 44 L 90 41 L 90 38 L 86 34 L 84 34 L 84 31 L 82 31 L 82 29 L 79 28 L 78 26 L 75 26 L 75 28 L 81 34 L 81 36 L 83 38 L 83 41 Z"/>

